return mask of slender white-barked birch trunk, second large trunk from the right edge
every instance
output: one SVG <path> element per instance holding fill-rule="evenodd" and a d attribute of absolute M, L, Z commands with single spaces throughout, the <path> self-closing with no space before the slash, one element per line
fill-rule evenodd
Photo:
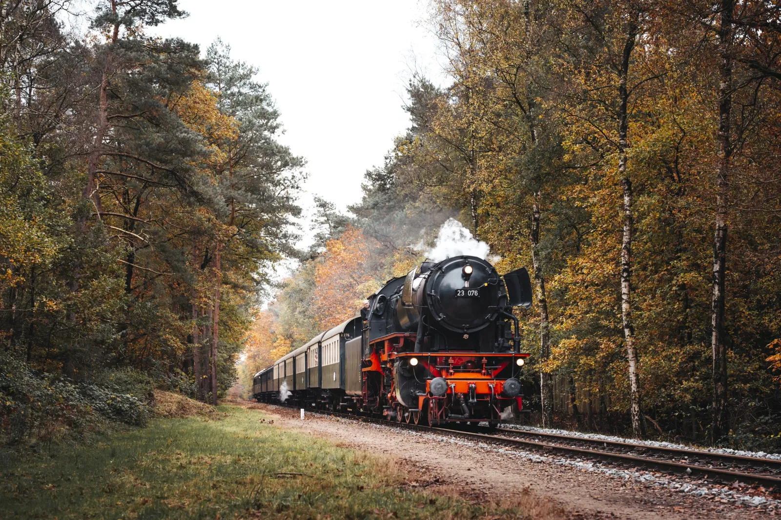
<path fill-rule="evenodd" d="M 629 133 L 629 91 L 626 86 L 629 75 L 629 60 L 637 38 L 637 24 L 630 23 L 627 30 L 621 68 L 619 69 L 619 178 L 624 196 L 624 230 L 621 244 L 621 322 L 626 344 L 626 358 L 629 362 L 629 401 L 632 417 L 632 431 L 642 439 L 645 436 L 645 422 L 640 408 L 640 376 L 638 375 L 637 349 L 634 344 L 632 323 L 632 181 L 626 176 L 626 148 Z"/>

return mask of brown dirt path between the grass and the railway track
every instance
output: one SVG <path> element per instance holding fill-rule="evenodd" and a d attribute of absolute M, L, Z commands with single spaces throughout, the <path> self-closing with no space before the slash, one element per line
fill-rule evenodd
<path fill-rule="evenodd" d="M 480 450 L 464 445 L 458 438 L 446 440 L 392 426 L 314 414 L 307 414 L 305 421 L 301 421 L 298 411 L 266 404 L 252 404 L 249 408 L 259 408 L 273 415 L 274 421 L 286 428 L 327 436 L 356 449 L 401 458 L 405 464 L 427 476 L 423 485 L 459 486 L 465 496 L 477 500 L 528 489 L 537 500 L 554 500 L 567 511 L 566 517 L 573 519 L 778 518 L 775 511 L 722 504 L 708 497 L 692 497 L 585 470 L 535 463 L 492 448 Z"/>

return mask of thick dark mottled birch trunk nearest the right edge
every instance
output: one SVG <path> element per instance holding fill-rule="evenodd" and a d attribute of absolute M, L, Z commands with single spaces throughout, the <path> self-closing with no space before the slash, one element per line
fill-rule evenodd
<path fill-rule="evenodd" d="M 732 112 L 733 63 L 730 41 L 733 34 L 733 0 L 722 1 L 719 23 L 719 148 L 716 162 L 716 215 L 713 234 L 713 279 L 711 295 L 711 351 L 713 355 L 713 404 L 711 440 L 726 431 L 727 347 L 724 330 L 727 208 L 729 204 L 729 119 Z"/>

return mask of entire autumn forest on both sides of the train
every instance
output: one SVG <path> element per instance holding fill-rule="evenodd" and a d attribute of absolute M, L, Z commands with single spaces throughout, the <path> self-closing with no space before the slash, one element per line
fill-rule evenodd
<path fill-rule="evenodd" d="M 462 223 L 533 275 L 531 420 L 781 448 L 778 5 L 432 0 L 449 83 L 311 227 L 262 71 L 153 35 L 176 0 L 0 5 L 0 443 L 246 397 Z"/>

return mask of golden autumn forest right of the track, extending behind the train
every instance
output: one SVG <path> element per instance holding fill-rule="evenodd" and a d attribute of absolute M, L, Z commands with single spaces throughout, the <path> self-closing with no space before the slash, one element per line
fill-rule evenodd
<path fill-rule="evenodd" d="M 781 8 L 431 4 L 451 84 L 259 314 L 251 373 L 355 314 L 455 218 L 533 273 L 533 422 L 779 448 Z M 683 30 L 682 30 L 683 28 Z M 324 312 L 327 308 L 331 312 Z"/>

